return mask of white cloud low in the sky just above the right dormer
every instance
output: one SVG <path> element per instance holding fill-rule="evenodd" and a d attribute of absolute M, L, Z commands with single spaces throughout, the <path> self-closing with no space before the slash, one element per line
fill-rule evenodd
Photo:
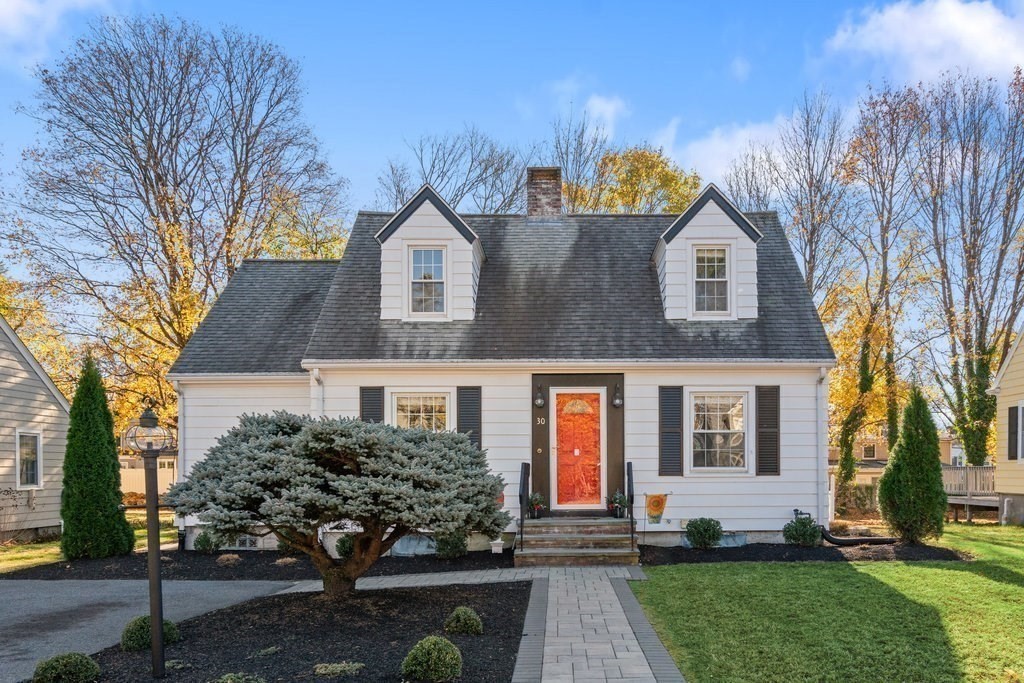
<path fill-rule="evenodd" d="M 721 183 L 732 161 L 742 154 L 751 142 L 773 140 L 784 120 L 784 117 L 779 115 L 771 121 L 716 126 L 701 137 L 679 142 L 677 134 L 680 120 L 675 118 L 657 131 L 652 140 L 677 164 L 699 173 L 705 182 Z"/>

